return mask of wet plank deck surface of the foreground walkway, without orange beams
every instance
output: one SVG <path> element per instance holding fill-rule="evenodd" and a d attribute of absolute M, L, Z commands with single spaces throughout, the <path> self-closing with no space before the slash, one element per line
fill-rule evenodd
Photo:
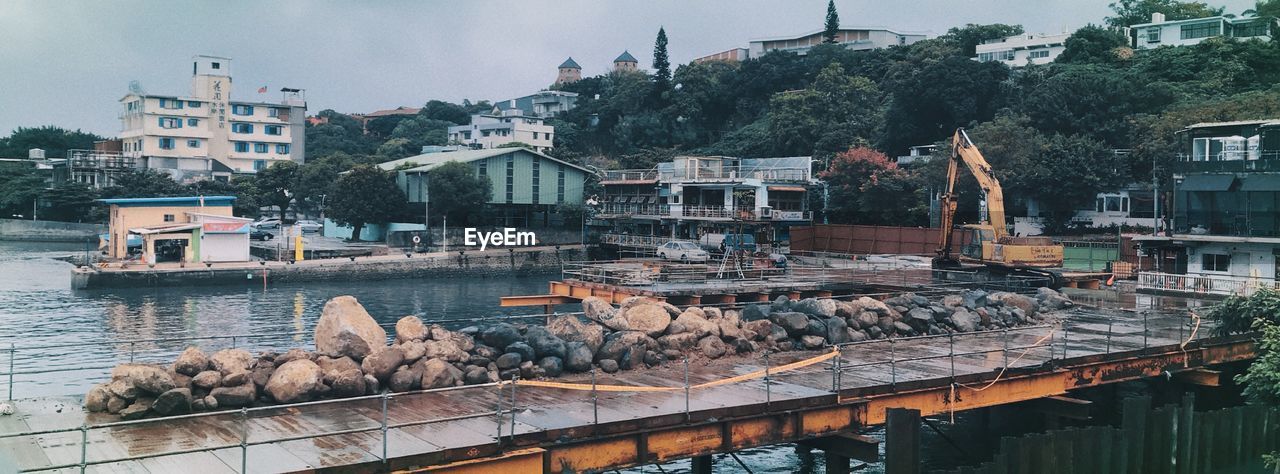
<path fill-rule="evenodd" d="M 499 441 L 540 433 L 589 434 L 593 424 L 625 424 L 634 429 L 682 423 L 698 413 L 756 409 L 760 404 L 835 404 L 838 398 L 892 391 L 896 384 L 1050 370 L 1051 360 L 1102 356 L 1143 347 L 1176 346 L 1189 337 L 1185 311 L 1149 313 L 1076 309 L 1061 327 L 955 334 L 954 337 L 873 341 L 846 346 L 838 374 L 835 360 L 799 370 L 771 374 L 733 384 L 669 392 L 599 392 L 593 407 L 590 392 L 517 386 L 470 386 L 448 391 L 393 395 L 387 401 L 385 455 L 412 457 L 417 464 L 477 457 L 499 452 Z M 1197 338 L 1210 334 L 1201 327 Z M 1064 338 L 1065 336 L 1065 338 Z M 1009 348 L 1006 351 L 1006 347 Z M 804 360 L 822 352 L 783 352 L 769 356 L 769 366 Z M 1132 355 L 1132 354 L 1130 354 Z M 1117 354 L 1119 356 L 1129 356 Z M 689 383 L 699 384 L 764 368 L 760 357 L 691 361 Z M 599 384 L 682 387 L 682 363 L 649 370 L 598 377 Z M 586 377 L 572 382 L 589 383 Z M 838 387 L 837 387 L 838 384 Z M 836 397 L 833 388 L 838 388 Z M 293 471 L 319 468 L 376 468 L 383 459 L 383 400 L 347 400 L 329 404 L 224 411 L 175 420 L 109 428 L 79 429 L 35 436 L 6 433 L 78 428 L 102 423 L 72 402 L 29 400 L 17 404 L 17 416 L 0 418 L 0 459 L 22 470 L 78 471 L 82 436 L 83 459 L 93 473 L 236 473 L 242 454 L 250 471 Z M 498 415 L 502 406 L 502 415 Z M 55 413 L 56 407 L 56 413 Z M 436 421 L 433 421 L 436 420 Z M 443 421 L 442 421 L 443 420 Z M 362 430 L 364 429 L 364 430 Z M 329 434 L 326 434 L 329 433 Z M 499 433 L 502 439 L 499 439 Z M 244 439 L 247 448 L 241 447 Z M 287 441 L 280 441 L 287 439 Z M 509 439 L 508 439 L 509 441 Z M 550 439 L 554 441 L 554 439 Z M 178 451 L 198 452 L 173 454 Z M 64 466 L 65 469 L 56 469 Z M 54 469 L 51 469 L 54 468 Z"/>

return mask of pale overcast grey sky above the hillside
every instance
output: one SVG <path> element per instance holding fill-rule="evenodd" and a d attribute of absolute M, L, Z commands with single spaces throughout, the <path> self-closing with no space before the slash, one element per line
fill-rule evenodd
<path fill-rule="evenodd" d="M 965 23 L 1060 33 L 1108 0 L 837 0 L 841 26 L 941 35 Z M 1211 1 L 1240 13 L 1252 0 Z M 232 59 L 233 100 L 306 90 L 308 113 L 367 113 L 545 88 L 572 56 L 584 77 L 630 50 L 672 64 L 822 28 L 827 0 L 160 1 L 0 0 L 0 136 L 45 124 L 115 136 L 129 82 L 184 95 L 191 58 Z M 260 87 L 270 91 L 259 95 Z"/>

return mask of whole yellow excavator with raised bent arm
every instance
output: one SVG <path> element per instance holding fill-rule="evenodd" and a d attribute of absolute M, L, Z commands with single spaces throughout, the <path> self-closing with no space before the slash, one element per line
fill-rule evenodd
<path fill-rule="evenodd" d="M 969 243 L 952 254 L 952 229 L 955 228 L 956 176 L 960 164 L 973 173 L 978 186 L 987 195 L 987 222 L 965 224 L 961 228 L 969 236 Z M 951 160 L 947 164 L 947 191 L 942 195 L 942 236 L 938 255 L 933 268 L 938 277 L 946 279 L 969 275 L 968 279 L 996 279 L 1009 277 L 1038 277 L 1036 286 L 1061 286 L 1061 274 L 1055 268 L 1062 266 L 1062 246 L 1055 245 L 1048 237 L 1014 237 L 1005 225 L 1005 193 L 991 170 L 991 164 L 982 156 L 978 147 L 969 140 L 964 128 L 957 128 L 951 137 Z M 1030 281 L 1029 281 L 1030 282 Z"/>

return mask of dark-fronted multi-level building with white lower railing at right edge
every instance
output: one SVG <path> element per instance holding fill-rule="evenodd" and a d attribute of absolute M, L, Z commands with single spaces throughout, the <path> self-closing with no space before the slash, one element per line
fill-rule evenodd
<path fill-rule="evenodd" d="M 1135 238 L 1165 278 L 1204 292 L 1275 286 L 1280 274 L 1280 119 L 1198 123 L 1178 133 L 1171 223 Z M 1149 277 L 1155 278 L 1155 277 Z M 1162 277 L 1164 278 L 1164 277 Z M 1185 288 L 1184 288 L 1185 290 Z"/>

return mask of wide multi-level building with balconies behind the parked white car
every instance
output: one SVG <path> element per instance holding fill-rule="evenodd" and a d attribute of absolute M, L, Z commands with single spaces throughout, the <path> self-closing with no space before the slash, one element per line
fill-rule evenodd
<path fill-rule="evenodd" d="M 810 156 L 677 156 L 654 169 L 609 170 L 594 220 L 607 233 L 700 238 L 754 233 L 787 241 L 791 225 L 813 222 Z"/>

